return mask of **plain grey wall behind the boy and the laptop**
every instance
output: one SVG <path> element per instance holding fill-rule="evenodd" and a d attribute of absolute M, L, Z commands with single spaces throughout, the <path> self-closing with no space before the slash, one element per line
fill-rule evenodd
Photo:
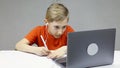
<path fill-rule="evenodd" d="M 0 50 L 11 50 L 33 27 L 43 25 L 47 7 L 55 0 L 0 0 Z M 59 0 L 70 11 L 76 31 L 116 28 L 120 50 L 120 0 Z"/>

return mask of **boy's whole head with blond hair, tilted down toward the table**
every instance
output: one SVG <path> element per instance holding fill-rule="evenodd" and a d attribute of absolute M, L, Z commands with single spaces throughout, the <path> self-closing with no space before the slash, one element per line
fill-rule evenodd
<path fill-rule="evenodd" d="M 45 23 L 48 23 L 48 32 L 55 38 L 60 38 L 66 30 L 68 9 L 60 3 L 51 4 L 46 12 Z"/>

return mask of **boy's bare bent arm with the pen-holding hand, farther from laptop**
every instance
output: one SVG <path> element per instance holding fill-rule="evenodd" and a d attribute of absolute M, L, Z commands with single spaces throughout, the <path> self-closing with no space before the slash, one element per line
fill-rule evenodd
<path fill-rule="evenodd" d="M 30 46 L 29 44 L 30 42 L 26 38 L 24 38 L 16 44 L 15 48 L 19 51 L 34 53 L 37 55 L 48 55 L 49 50 L 46 49 L 45 47 L 35 47 Z"/>

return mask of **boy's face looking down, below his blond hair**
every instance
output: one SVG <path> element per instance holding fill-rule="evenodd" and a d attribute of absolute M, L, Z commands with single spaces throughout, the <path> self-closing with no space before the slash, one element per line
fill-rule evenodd
<path fill-rule="evenodd" d="M 48 24 L 48 32 L 53 35 L 55 38 L 60 38 L 61 35 L 66 30 L 68 18 L 63 21 L 53 21 Z"/>

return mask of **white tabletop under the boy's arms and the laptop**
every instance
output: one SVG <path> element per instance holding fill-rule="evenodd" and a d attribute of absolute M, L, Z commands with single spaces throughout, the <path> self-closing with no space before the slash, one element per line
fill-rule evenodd
<path fill-rule="evenodd" d="M 53 60 L 20 51 L 0 51 L 0 68 L 60 68 Z M 120 68 L 120 51 L 112 65 L 94 68 Z"/>

